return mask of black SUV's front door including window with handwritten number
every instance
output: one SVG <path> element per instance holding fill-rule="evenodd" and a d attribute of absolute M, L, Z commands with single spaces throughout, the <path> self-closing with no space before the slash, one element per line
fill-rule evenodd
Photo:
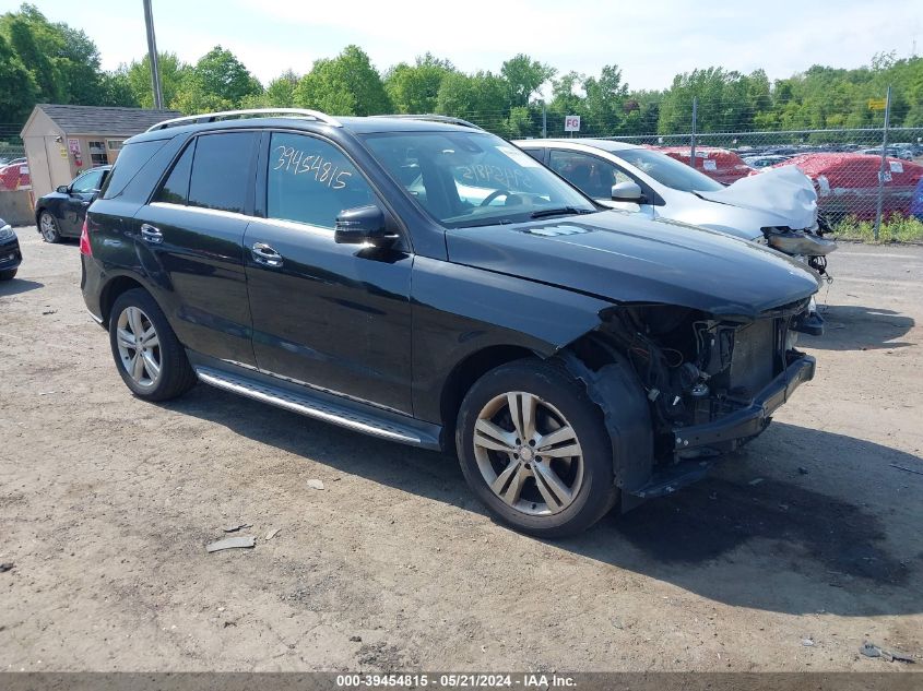
<path fill-rule="evenodd" d="M 333 144 L 274 132 L 264 146 L 267 218 L 244 241 L 259 368 L 411 413 L 412 254 L 333 241 L 340 211 L 381 205 Z"/>

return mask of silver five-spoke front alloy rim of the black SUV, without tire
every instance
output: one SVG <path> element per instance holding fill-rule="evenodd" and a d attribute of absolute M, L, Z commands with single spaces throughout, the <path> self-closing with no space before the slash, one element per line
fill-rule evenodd
<path fill-rule="evenodd" d="M 564 511 L 583 482 L 576 430 L 555 406 L 524 391 L 484 406 L 474 425 L 474 457 L 494 493 L 529 515 Z"/>

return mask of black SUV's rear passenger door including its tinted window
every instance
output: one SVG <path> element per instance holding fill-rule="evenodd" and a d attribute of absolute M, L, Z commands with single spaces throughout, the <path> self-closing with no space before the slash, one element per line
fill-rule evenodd
<path fill-rule="evenodd" d="M 258 141 L 255 132 L 198 136 L 132 222 L 142 271 L 156 285 L 180 343 L 250 366 L 242 243 Z"/>

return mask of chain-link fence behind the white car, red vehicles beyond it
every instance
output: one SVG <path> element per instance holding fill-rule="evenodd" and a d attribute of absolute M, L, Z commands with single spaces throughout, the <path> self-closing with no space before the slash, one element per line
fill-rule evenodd
<path fill-rule="evenodd" d="M 892 99 L 890 88 L 876 98 L 814 103 L 780 95 L 679 104 L 664 97 L 626 100 L 601 115 L 575 99 L 568 112 L 539 103 L 450 115 L 509 139 L 591 136 L 658 148 L 724 184 L 795 165 L 839 235 L 877 240 L 888 226 L 888 239 L 923 239 L 923 103 Z M 565 130 L 569 115 L 580 116 L 579 131 Z"/>

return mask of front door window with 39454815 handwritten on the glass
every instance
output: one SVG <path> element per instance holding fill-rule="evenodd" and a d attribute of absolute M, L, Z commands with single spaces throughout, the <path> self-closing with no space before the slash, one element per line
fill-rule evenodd
<path fill-rule="evenodd" d="M 375 201 L 366 179 L 333 144 L 305 134 L 273 133 L 267 216 L 333 228 L 341 211 Z"/>

